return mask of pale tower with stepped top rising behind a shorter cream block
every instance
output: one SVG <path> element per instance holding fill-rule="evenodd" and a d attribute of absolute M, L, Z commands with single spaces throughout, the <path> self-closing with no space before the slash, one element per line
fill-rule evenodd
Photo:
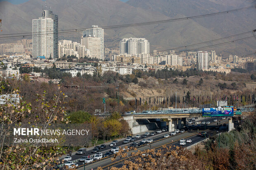
<path fill-rule="evenodd" d="M 104 60 L 104 29 L 98 26 L 83 31 L 83 37 L 96 37 L 100 38 L 100 60 Z"/>

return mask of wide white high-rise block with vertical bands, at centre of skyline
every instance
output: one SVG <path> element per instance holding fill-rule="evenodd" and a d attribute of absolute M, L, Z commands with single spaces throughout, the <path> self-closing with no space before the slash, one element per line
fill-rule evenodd
<path fill-rule="evenodd" d="M 124 38 L 120 41 L 120 54 L 149 54 L 149 42 L 145 38 Z"/>

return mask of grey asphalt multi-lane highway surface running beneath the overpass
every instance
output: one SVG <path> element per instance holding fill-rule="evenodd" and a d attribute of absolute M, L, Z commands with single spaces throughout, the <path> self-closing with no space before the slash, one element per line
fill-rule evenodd
<path fill-rule="evenodd" d="M 210 128 L 210 129 L 214 129 L 214 130 L 216 130 L 215 127 L 216 127 L 216 125 L 217 125 L 217 122 L 218 122 L 218 124 L 219 124 L 220 121 L 221 121 L 222 124 L 223 124 L 223 123 L 228 123 L 228 120 L 227 120 L 227 119 L 217 118 L 217 119 L 218 119 L 217 122 L 214 122 L 213 119 L 214 119 L 214 118 L 206 118 L 206 119 L 201 119 L 201 121 L 210 121 L 211 124 L 210 124 L 210 125 L 207 125 L 206 128 L 208 128 L 208 129 Z M 197 119 L 196 119 L 196 121 L 197 121 Z M 196 121 L 192 121 L 193 124 L 194 124 Z M 189 126 L 189 127 L 190 127 L 190 126 Z M 201 130 L 204 130 L 204 128 L 205 128 L 204 125 L 201 125 Z M 147 137 L 147 138 L 153 139 L 154 142 L 151 143 L 151 144 L 149 144 L 149 145 L 145 145 L 145 146 L 143 146 L 143 147 L 140 147 L 140 148 L 138 148 L 138 150 L 143 151 L 143 150 L 149 149 L 149 148 L 161 147 L 162 145 L 166 145 L 166 144 L 177 145 L 177 144 L 179 144 L 178 141 L 179 141 L 181 138 L 185 138 L 185 139 L 190 138 L 190 139 L 192 140 L 192 143 L 191 143 L 191 144 L 194 144 L 194 143 L 196 143 L 196 142 L 199 142 L 199 141 L 201 141 L 201 140 L 204 140 L 204 137 L 199 137 L 199 136 L 197 136 L 197 134 L 198 134 L 197 129 L 199 129 L 199 127 L 196 126 L 194 129 L 193 129 L 193 128 L 190 128 L 190 130 L 189 130 L 189 131 L 186 131 L 185 133 L 178 133 L 177 135 L 174 135 L 174 136 L 171 136 L 171 135 L 170 135 L 170 137 L 165 138 L 165 139 L 164 139 L 164 135 L 165 135 L 165 134 L 170 134 L 170 132 L 164 132 L 164 133 L 161 133 L 160 135 L 149 136 L 149 137 Z M 208 133 L 211 135 L 211 134 L 214 133 L 214 130 L 209 130 Z M 215 132 L 215 133 L 216 133 L 216 132 Z M 147 139 L 147 138 L 146 138 L 146 139 Z M 144 139 L 144 138 L 137 138 L 137 139 L 136 139 L 136 142 L 140 142 L 142 139 Z M 164 140 L 163 140 L 163 139 L 164 139 Z M 129 144 L 123 144 L 122 142 L 123 142 L 123 140 L 122 140 L 122 141 L 119 141 L 119 143 L 118 143 L 116 146 L 124 147 L 124 146 L 127 146 L 127 145 L 129 146 L 129 145 L 130 145 L 130 143 L 129 143 Z M 107 145 L 107 144 L 106 144 L 106 145 Z M 189 145 L 190 145 L 189 143 L 186 144 L 186 146 L 189 146 Z M 109 144 L 108 144 L 108 145 L 107 145 L 107 148 L 105 148 L 105 149 L 100 149 L 100 152 L 102 152 L 102 154 L 104 155 L 107 151 L 110 151 L 111 148 L 112 148 L 112 147 L 110 147 Z M 71 160 L 71 161 L 76 161 L 76 160 L 78 160 L 79 158 L 81 158 L 82 156 L 88 156 L 88 154 L 93 155 L 93 153 L 91 153 L 91 151 L 92 151 L 92 149 L 91 149 L 91 150 L 88 150 L 87 153 L 84 154 L 84 155 L 72 155 L 72 156 L 71 156 L 71 157 L 72 157 L 72 160 Z M 118 160 L 117 160 L 117 161 L 118 161 Z M 83 162 L 76 162 L 76 163 L 77 163 L 79 166 L 82 166 L 82 165 L 83 165 Z M 112 164 L 113 164 L 113 165 L 112 165 Z M 95 168 L 100 167 L 100 166 L 101 166 L 101 167 L 104 167 L 104 168 L 107 168 L 107 167 L 109 167 L 109 166 L 116 166 L 116 167 L 119 167 L 119 166 L 121 166 L 121 164 L 120 164 L 120 163 L 113 163 L 113 162 L 111 162 L 111 157 L 110 157 L 110 158 L 98 160 L 98 161 L 92 162 L 92 163 L 90 163 L 90 164 L 88 164 L 88 165 L 85 165 L 85 168 L 86 168 L 86 169 L 95 169 Z M 83 170 L 83 167 L 78 168 L 78 169 Z"/>

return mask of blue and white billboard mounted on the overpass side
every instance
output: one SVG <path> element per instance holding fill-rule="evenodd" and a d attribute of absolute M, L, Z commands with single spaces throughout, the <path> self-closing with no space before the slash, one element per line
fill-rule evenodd
<path fill-rule="evenodd" d="M 233 107 L 217 107 L 217 108 L 203 108 L 203 117 L 212 116 L 234 116 Z"/>

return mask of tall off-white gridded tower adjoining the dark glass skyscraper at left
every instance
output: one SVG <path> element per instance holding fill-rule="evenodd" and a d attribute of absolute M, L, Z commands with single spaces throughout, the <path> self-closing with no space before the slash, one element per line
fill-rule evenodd
<path fill-rule="evenodd" d="M 53 31 L 53 19 L 39 17 L 32 20 L 33 57 L 53 57 Z"/>

